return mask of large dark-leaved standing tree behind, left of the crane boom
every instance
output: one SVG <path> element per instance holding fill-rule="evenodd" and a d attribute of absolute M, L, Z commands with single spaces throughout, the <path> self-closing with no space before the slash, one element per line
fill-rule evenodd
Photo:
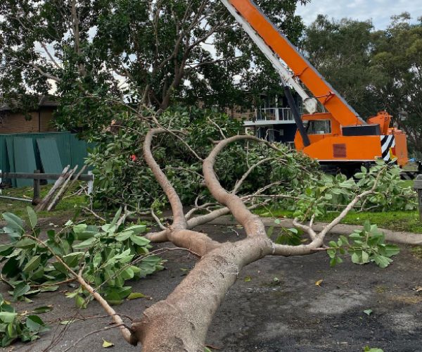
<path fill-rule="evenodd" d="M 295 8 L 307 1 L 257 5 L 298 44 L 304 26 Z M 46 94 L 55 85 L 58 125 L 72 130 L 110 122 L 116 101 L 136 110 L 175 101 L 252 106 L 263 89 L 279 87 L 218 0 L 5 0 L 0 46 L 0 95 Z"/>

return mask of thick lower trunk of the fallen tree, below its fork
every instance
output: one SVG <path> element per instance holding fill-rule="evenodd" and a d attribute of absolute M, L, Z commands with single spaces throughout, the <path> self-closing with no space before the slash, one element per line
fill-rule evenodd
<path fill-rule="evenodd" d="M 203 256 L 165 301 L 132 325 L 142 351 L 203 352 L 212 318 L 241 269 L 271 252 L 269 239 L 249 237 Z"/>

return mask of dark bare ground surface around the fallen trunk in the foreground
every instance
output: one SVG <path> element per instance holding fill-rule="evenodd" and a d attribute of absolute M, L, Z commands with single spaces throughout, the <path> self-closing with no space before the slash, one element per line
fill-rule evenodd
<path fill-rule="evenodd" d="M 200 227 L 219 241 L 236 241 L 243 236 L 221 225 Z M 139 318 L 142 311 L 169 294 L 195 265 L 193 256 L 170 252 L 165 255 L 167 270 L 134 282 L 134 291 L 152 300 L 127 301 L 117 312 Z M 422 260 L 402 247 L 402 253 L 387 269 L 375 265 L 353 265 L 345 261 L 329 267 L 328 256 L 267 257 L 248 265 L 226 295 L 217 311 L 207 343 L 219 351 L 362 351 L 366 345 L 387 351 L 422 351 L 422 296 L 414 287 L 422 286 Z M 250 281 L 245 277 L 250 277 Z M 315 282 L 323 280 L 321 287 Z M 63 289 L 70 289 L 63 287 Z M 3 287 L 2 291 L 6 291 Z M 54 292 L 35 297 L 32 307 L 53 304 L 43 315 L 51 332 L 34 344 L 16 346 L 14 351 L 44 351 L 63 329 L 58 320 L 75 314 L 85 321 L 75 322 L 50 351 L 64 351 L 85 334 L 108 325 L 96 303 L 77 313 L 73 301 Z M 19 303 L 20 308 L 28 305 Z M 366 315 L 364 310 L 372 310 Z M 104 351 L 103 339 L 115 344 L 115 351 L 139 351 L 128 346 L 115 329 L 84 339 L 70 351 Z"/>

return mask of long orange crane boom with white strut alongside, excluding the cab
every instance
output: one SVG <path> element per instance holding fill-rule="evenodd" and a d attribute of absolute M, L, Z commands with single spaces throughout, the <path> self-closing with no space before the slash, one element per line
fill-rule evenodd
<path fill-rule="evenodd" d="M 222 3 L 235 16 L 252 40 L 260 47 L 281 75 L 284 82 L 290 84 L 300 94 L 304 102 L 309 102 L 312 111 L 312 98 L 309 98 L 298 78 L 315 98 L 333 115 L 340 125 L 366 125 L 356 111 L 343 99 L 333 87 L 324 80 L 316 69 L 299 53 L 288 39 L 272 25 L 252 0 L 222 0 Z M 293 75 L 286 70 L 283 60 Z"/>

